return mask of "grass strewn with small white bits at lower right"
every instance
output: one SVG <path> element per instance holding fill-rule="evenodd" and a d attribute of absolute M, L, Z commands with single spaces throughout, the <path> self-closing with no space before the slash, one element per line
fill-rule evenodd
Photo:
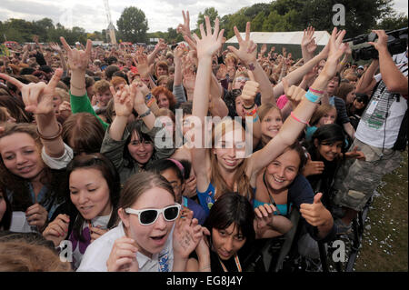
<path fill-rule="evenodd" d="M 407 150 L 402 155 L 401 166 L 377 188 L 354 265 L 357 272 L 408 271 Z"/>

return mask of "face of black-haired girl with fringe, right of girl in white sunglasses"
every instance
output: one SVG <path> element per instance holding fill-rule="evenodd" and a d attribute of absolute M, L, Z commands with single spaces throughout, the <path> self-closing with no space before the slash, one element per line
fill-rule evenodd
<path fill-rule="evenodd" d="M 212 228 L 213 249 L 222 260 L 228 260 L 245 244 L 246 238 L 232 223 L 224 229 Z"/>

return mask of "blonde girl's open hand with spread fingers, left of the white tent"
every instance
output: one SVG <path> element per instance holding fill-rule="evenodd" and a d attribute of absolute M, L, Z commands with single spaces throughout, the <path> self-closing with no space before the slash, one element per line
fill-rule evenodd
<path fill-rule="evenodd" d="M 197 58 L 201 59 L 204 57 L 212 56 L 222 47 L 222 39 L 224 34 L 224 29 L 219 33 L 219 19 L 216 18 L 214 21 L 214 33 L 212 34 L 212 27 L 210 26 L 210 20 L 208 16 L 205 16 L 205 25 L 200 25 L 200 34 L 202 38 L 199 38 L 196 34 L 194 35 L 196 41 L 196 51 Z M 192 42 L 191 40 L 187 41 L 188 37 L 184 36 L 186 42 Z"/>

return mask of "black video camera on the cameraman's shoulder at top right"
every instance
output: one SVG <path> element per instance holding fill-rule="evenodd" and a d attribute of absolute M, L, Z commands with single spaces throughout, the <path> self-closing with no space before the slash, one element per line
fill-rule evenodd
<path fill-rule="evenodd" d="M 386 32 L 388 35 L 388 51 L 391 55 L 401 54 L 407 49 L 407 33 L 408 27 L 396 29 L 393 31 Z M 374 32 L 369 35 L 358 35 L 353 38 L 344 39 L 344 43 L 353 42 L 353 45 L 360 45 L 365 42 L 374 42 L 378 38 Z M 373 45 L 365 46 L 361 48 L 354 49 L 352 51 L 352 57 L 355 62 L 360 59 L 369 60 L 377 59 L 378 51 L 374 48 Z"/>

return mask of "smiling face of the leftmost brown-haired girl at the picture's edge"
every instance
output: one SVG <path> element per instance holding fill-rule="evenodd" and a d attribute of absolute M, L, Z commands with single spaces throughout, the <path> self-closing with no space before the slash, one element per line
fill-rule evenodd
<path fill-rule="evenodd" d="M 0 138 L 0 155 L 5 167 L 14 175 L 33 179 L 45 165 L 35 139 L 26 133 L 15 133 Z"/>

